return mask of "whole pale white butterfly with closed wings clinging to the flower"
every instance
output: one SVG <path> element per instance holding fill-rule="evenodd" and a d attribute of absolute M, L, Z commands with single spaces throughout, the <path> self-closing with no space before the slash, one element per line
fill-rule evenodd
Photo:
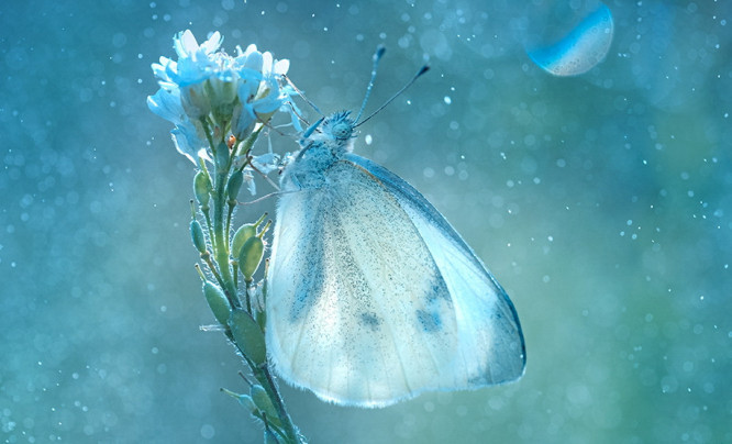
<path fill-rule="evenodd" d="M 352 153 L 356 125 L 321 119 L 280 177 L 265 333 L 277 373 L 357 407 L 518 379 L 506 291 L 419 191 Z"/>

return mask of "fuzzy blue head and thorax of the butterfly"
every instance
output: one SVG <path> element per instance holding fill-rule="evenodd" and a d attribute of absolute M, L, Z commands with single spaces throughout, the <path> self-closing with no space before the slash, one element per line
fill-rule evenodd
<path fill-rule="evenodd" d="M 313 125 L 300 138 L 297 153 L 280 179 L 282 190 L 321 188 L 324 173 L 346 153 L 353 151 L 355 121 L 351 111 L 336 112 Z"/>

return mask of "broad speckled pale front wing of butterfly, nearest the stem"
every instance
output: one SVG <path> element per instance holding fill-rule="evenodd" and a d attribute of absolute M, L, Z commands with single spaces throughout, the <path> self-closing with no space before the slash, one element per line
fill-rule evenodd
<path fill-rule="evenodd" d="M 276 226 L 268 287 L 273 360 L 286 379 L 342 403 L 439 388 L 453 378 L 458 330 L 426 245 L 373 175 L 350 162 L 326 175 L 330 186 L 278 207 L 288 217 Z M 296 253 L 280 257 L 285 248 Z"/>

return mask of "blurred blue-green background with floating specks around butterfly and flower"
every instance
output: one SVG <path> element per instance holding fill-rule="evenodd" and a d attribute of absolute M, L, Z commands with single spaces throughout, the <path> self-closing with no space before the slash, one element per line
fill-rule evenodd
<path fill-rule="evenodd" d="M 380 410 L 284 387 L 311 442 L 732 442 L 732 10 L 654 0 L 4 3 L 2 442 L 262 442 L 219 391 L 243 367 L 199 330 L 193 170 L 145 103 L 186 29 L 289 58 L 326 113 L 358 108 L 377 45 L 370 110 L 428 62 L 356 152 L 443 212 L 524 329 L 502 387 Z"/>

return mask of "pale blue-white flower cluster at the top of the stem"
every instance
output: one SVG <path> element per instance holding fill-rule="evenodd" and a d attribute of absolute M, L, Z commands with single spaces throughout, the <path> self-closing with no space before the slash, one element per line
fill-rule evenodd
<path fill-rule="evenodd" d="M 173 122 L 170 132 L 178 152 L 198 165 L 198 157 L 211 159 L 211 143 L 229 135 L 243 141 L 257 123 L 266 123 L 287 107 L 292 93 L 282 87 L 289 60 L 275 60 L 255 45 L 236 47 L 232 57 L 221 51 L 223 37 L 214 32 L 200 45 L 190 31 L 174 37 L 178 60 L 160 57 L 153 64 L 160 89 L 147 98 L 147 106 Z"/>

